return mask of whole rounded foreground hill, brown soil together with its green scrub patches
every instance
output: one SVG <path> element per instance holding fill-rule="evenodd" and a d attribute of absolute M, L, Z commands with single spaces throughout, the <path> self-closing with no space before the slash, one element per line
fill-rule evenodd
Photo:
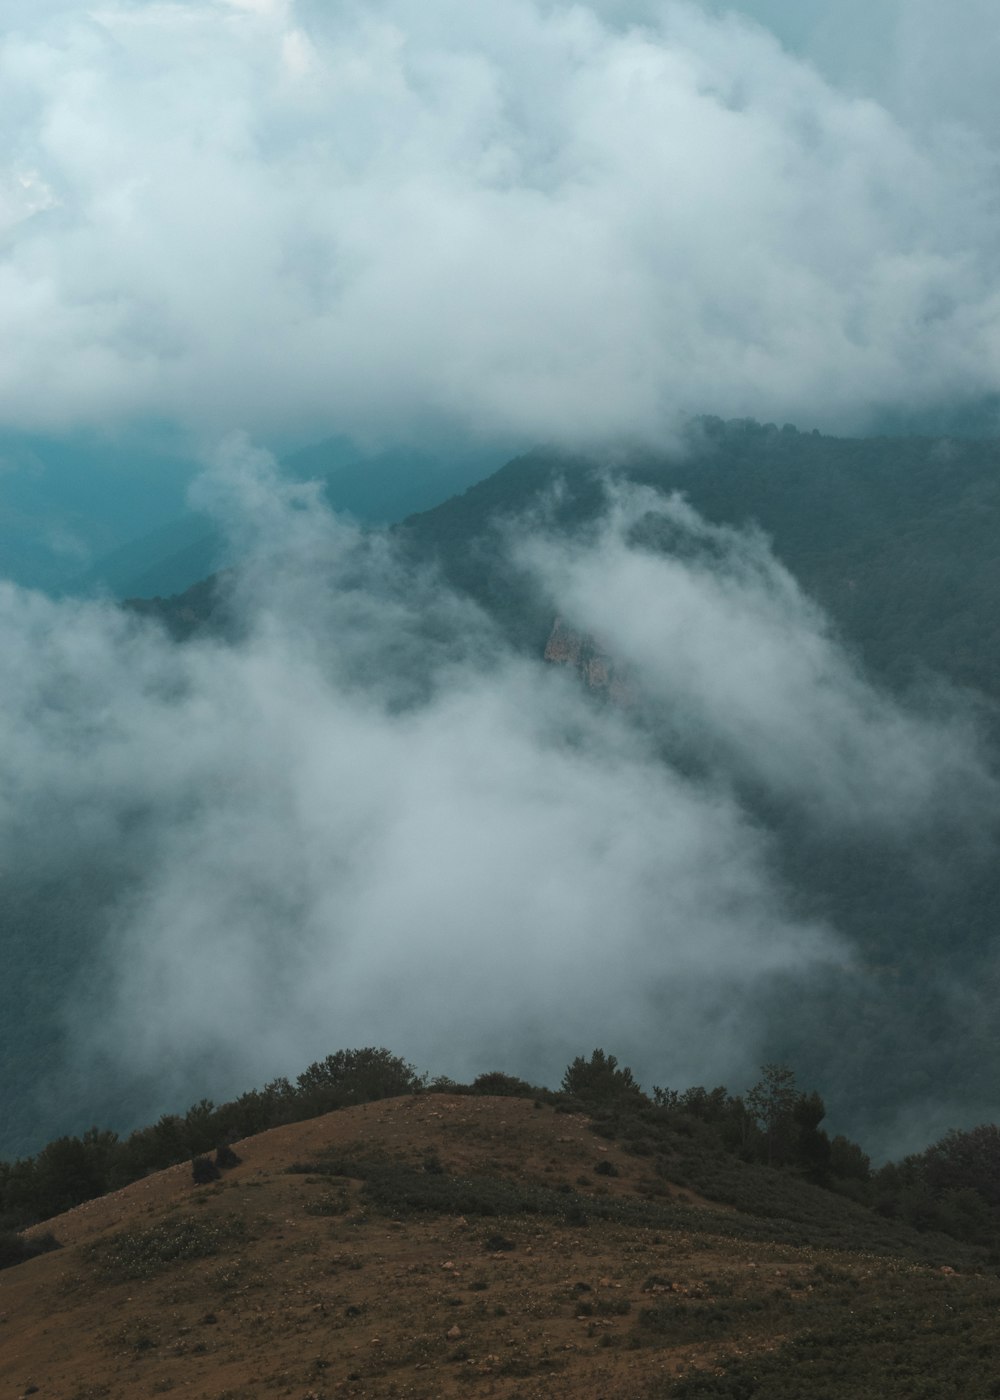
<path fill-rule="evenodd" d="M 206 1186 L 185 1163 L 50 1219 L 29 1232 L 49 1252 L 0 1274 L 0 1386 L 50 1400 L 996 1393 L 1000 1282 L 975 1250 L 766 1168 L 745 1169 L 752 1204 L 734 1205 L 699 1190 L 697 1137 L 651 1156 L 567 1107 L 385 1099 L 239 1141 Z"/>

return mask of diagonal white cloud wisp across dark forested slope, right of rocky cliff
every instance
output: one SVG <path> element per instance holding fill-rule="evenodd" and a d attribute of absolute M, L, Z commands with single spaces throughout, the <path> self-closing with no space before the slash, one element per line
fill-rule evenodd
<path fill-rule="evenodd" d="M 835 829 L 913 841 L 943 813 L 996 809 L 968 720 L 920 717 L 874 689 L 762 536 L 650 490 L 613 498 L 597 539 L 520 553 L 681 752 Z"/>

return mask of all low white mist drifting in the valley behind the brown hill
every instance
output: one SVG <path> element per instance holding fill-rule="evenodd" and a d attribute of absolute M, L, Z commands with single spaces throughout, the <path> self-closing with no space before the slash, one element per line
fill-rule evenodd
<path fill-rule="evenodd" d="M 258 540 L 228 640 L 0 589 L 8 868 L 113 872 L 64 1016 L 84 1078 L 146 1077 L 147 1112 L 378 1042 L 550 1082 L 602 1042 L 647 1082 L 738 1084 L 773 988 L 853 959 L 748 776 L 818 830 L 993 798 L 971 729 L 874 690 L 762 540 L 676 501 L 521 550 L 620 648 L 639 699 L 613 704 L 239 440 L 202 500 Z"/>

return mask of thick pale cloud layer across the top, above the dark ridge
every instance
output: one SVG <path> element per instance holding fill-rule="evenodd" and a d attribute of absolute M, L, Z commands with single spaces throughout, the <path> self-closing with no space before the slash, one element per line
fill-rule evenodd
<path fill-rule="evenodd" d="M 996 389 L 983 6 L 864 52 L 749 11 L 797 52 L 681 0 L 8 0 L 0 424 L 661 438 Z"/>

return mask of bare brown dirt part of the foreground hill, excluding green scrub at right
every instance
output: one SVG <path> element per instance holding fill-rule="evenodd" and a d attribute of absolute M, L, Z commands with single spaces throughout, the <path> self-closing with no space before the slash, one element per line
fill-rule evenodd
<path fill-rule="evenodd" d="M 748 1240 L 737 1212 L 662 1183 L 674 1228 L 588 1215 L 581 1200 L 627 1217 L 648 1163 L 525 1099 L 391 1099 L 237 1152 L 207 1187 L 171 1168 L 43 1226 L 63 1247 L 0 1273 L 0 1400 L 626 1400 L 773 1354 L 843 1295 L 856 1306 L 902 1280 L 933 1317 L 968 1284 Z M 382 1172 L 381 1197 L 359 1162 Z M 480 1204 L 496 1190 L 497 1214 L 452 1210 L 455 1182 Z M 413 1183 L 443 1183 L 438 1207 Z M 508 1208 L 513 1187 L 529 1208 Z"/>

